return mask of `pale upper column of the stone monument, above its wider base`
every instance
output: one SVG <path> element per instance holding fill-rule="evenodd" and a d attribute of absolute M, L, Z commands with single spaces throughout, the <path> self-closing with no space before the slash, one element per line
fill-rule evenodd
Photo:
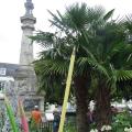
<path fill-rule="evenodd" d="M 20 53 L 20 64 L 21 65 L 30 65 L 33 62 L 33 45 L 32 41 L 29 36 L 33 35 L 34 24 L 36 23 L 36 19 L 32 14 L 33 3 L 30 0 L 25 2 L 25 14 L 21 16 L 22 23 L 22 41 L 21 41 L 21 53 Z"/>

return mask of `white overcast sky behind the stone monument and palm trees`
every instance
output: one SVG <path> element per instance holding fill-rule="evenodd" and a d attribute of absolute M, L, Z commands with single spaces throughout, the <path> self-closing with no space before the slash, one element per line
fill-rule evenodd
<path fill-rule="evenodd" d="M 0 63 L 19 63 L 21 46 L 21 23 L 20 16 L 25 12 L 24 2 L 26 0 L 1 0 L 0 2 Z M 32 0 L 34 3 L 34 16 L 37 20 L 36 30 L 48 31 L 50 14 L 59 10 L 64 11 L 65 7 L 76 2 L 86 2 L 88 6 L 103 6 L 106 10 L 116 9 L 116 15 L 132 13 L 131 0 Z M 38 47 L 34 46 L 34 55 Z"/>

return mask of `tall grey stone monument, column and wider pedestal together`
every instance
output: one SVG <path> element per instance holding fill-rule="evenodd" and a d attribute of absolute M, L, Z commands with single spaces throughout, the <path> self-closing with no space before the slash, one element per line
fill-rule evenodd
<path fill-rule="evenodd" d="M 34 68 L 32 66 L 33 62 L 33 45 L 32 41 L 29 36 L 33 35 L 34 24 L 36 23 L 36 19 L 33 16 L 32 10 L 34 6 L 32 0 L 26 0 L 25 6 L 25 14 L 21 16 L 22 23 L 22 41 L 21 41 L 21 53 L 20 53 L 20 68 L 16 70 L 16 87 L 19 89 L 20 97 L 23 98 L 23 102 L 26 105 L 28 110 L 32 110 L 34 105 L 38 105 L 43 110 L 44 103 L 42 100 L 42 96 L 36 95 L 36 76 Z M 38 103 L 37 103 L 38 102 Z"/>

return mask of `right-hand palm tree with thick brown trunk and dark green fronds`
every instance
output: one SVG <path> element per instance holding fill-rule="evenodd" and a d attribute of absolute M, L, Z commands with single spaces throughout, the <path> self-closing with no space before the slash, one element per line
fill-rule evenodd
<path fill-rule="evenodd" d="M 125 43 L 124 23 L 109 21 L 97 29 L 92 54 L 97 62 L 94 78 L 97 78 L 96 89 L 96 122 L 100 129 L 111 120 L 110 102 L 117 89 L 117 82 L 132 79 L 130 55 L 132 46 Z M 91 51 L 91 50 L 90 50 Z"/>

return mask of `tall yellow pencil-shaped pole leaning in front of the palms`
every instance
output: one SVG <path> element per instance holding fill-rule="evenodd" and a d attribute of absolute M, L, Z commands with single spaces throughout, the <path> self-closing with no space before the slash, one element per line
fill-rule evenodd
<path fill-rule="evenodd" d="M 69 91 L 70 91 L 72 76 L 73 76 L 73 70 L 74 70 L 74 63 L 75 63 L 75 47 L 73 50 L 72 57 L 70 57 L 70 64 L 69 64 L 68 76 L 67 76 L 67 81 L 66 81 L 66 89 L 65 89 L 65 96 L 64 96 L 64 102 L 63 102 L 63 109 L 62 109 L 58 132 L 63 132 L 63 128 L 64 128 L 67 101 L 68 101 L 68 96 L 69 96 Z"/>

